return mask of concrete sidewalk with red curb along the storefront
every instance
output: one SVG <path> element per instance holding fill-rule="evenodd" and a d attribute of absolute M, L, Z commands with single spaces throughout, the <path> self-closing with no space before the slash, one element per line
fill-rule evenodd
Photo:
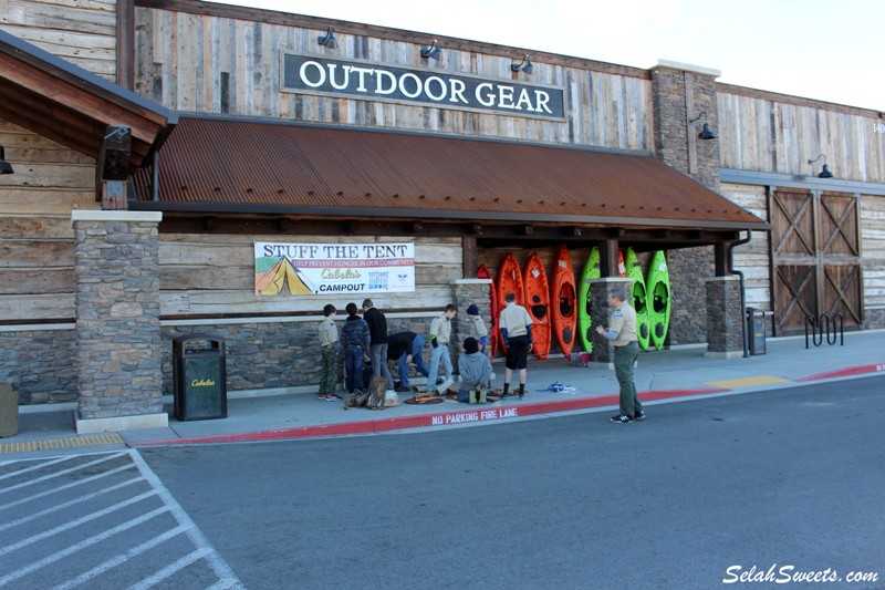
<path fill-rule="evenodd" d="M 766 354 L 747 359 L 708 359 L 706 345 L 679 346 L 639 354 L 635 377 L 647 414 L 665 400 L 726 395 L 789 387 L 810 381 L 852 379 L 885 372 L 885 331 L 845 334 L 844 345 L 826 342 L 805 349 L 804 338 L 769 339 Z M 503 363 L 493 365 L 493 386 L 503 382 Z M 559 382 L 574 392 L 550 392 Z M 24 406 L 19 434 L 0 438 L 0 460 L 59 454 L 59 449 L 93 447 L 207 444 L 237 441 L 272 441 L 320 436 L 364 435 L 409 428 L 439 428 L 468 424 L 549 416 L 566 412 L 616 412 L 617 381 L 602 366 L 571 366 L 562 358 L 530 361 L 525 398 L 508 397 L 486 405 L 451 401 L 434 405 L 403 404 L 383 411 L 343 410 L 314 394 L 238 396 L 228 400 L 228 417 L 178 422 L 167 404 L 169 426 L 81 435 L 74 429 L 75 404 Z M 400 402 L 410 394 L 399 394 Z M 600 418 L 603 420 L 602 417 Z"/>

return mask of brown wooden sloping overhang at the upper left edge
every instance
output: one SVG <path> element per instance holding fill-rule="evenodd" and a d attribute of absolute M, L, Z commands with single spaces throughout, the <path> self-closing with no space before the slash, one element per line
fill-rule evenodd
<path fill-rule="evenodd" d="M 100 159 L 108 127 L 131 130 L 129 167 L 145 164 L 176 115 L 0 30 L 0 118 Z"/>

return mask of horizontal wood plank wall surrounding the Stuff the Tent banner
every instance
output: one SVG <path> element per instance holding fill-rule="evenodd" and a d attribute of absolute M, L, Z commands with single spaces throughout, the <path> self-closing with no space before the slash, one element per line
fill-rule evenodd
<path fill-rule="evenodd" d="M 350 301 L 362 303 L 365 296 L 333 293 L 321 296 L 257 297 L 254 289 L 256 241 L 346 242 L 329 236 L 215 236 L 162 234 L 159 236 L 160 314 L 260 314 L 271 312 L 316 312 L 325 303 L 340 310 Z M 353 239 L 403 241 L 402 237 Z M 460 238 L 416 238 L 416 282 L 410 293 L 377 293 L 373 299 L 382 309 L 444 308 L 450 302 L 452 282 L 461 277 Z M 358 300 L 357 300 L 358 299 Z"/>

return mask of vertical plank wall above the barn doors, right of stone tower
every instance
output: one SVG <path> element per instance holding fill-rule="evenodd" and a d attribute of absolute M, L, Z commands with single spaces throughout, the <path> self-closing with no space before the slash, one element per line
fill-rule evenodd
<path fill-rule="evenodd" d="M 725 168 L 814 176 L 826 156 L 845 180 L 885 183 L 885 127 L 861 110 L 774 102 L 718 93 L 719 154 Z"/>

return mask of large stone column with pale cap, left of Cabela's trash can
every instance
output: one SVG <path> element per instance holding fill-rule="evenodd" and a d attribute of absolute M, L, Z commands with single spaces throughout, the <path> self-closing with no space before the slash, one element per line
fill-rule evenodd
<path fill-rule="evenodd" d="M 77 433 L 168 425 L 159 328 L 159 213 L 73 211 Z"/>

